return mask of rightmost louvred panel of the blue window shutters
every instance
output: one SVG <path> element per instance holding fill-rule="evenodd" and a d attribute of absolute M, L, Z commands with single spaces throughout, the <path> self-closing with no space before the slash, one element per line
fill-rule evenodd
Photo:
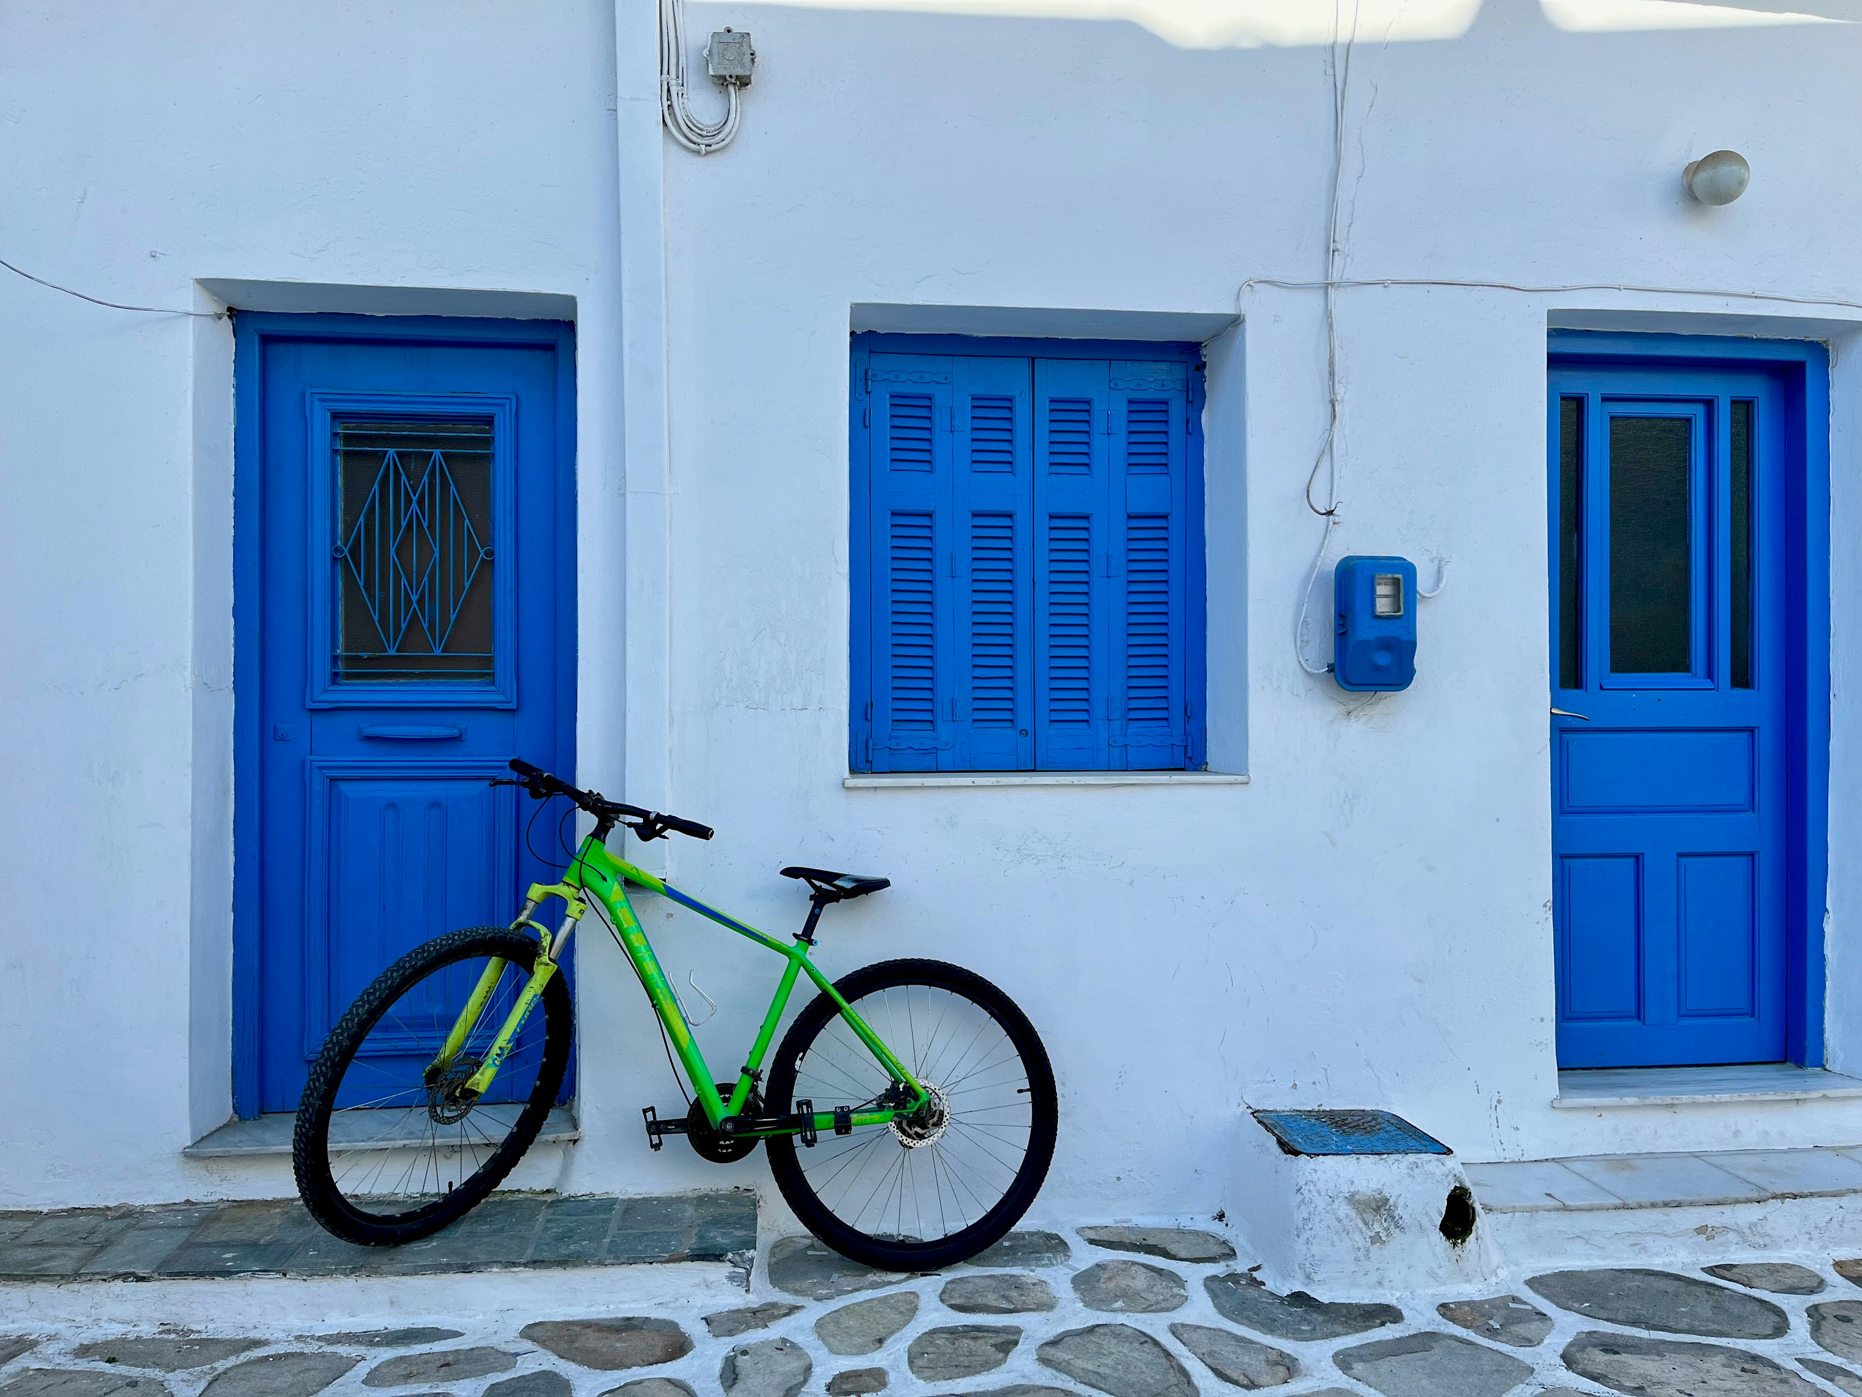
<path fill-rule="evenodd" d="M 1110 365 L 1112 514 L 1121 576 L 1112 617 L 1112 766 L 1188 764 L 1188 365 Z"/>

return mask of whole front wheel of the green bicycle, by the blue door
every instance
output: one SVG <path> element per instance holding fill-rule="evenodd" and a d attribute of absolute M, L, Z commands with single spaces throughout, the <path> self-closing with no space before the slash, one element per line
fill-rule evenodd
<path fill-rule="evenodd" d="M 328 1231 L 371 1246 L 426 1237 L 490 1194 L 531 1147 L 568 1071 L 562 974 L 544 985 L 490 1090 L 475 1097 L 466 1084 L 536 954 L 536 939 L 519 931 L 452 931 L 387 967 L 330 1030 L 290 1149 L 298 1194 Z"/>

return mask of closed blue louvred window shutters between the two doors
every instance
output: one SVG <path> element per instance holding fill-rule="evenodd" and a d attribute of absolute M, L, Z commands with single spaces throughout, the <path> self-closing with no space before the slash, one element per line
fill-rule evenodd
<path fill-rule="evenodd" d="M 1197 350 L 1002 345 L 855 341 L 851 766 L 1197 769 Z"/>

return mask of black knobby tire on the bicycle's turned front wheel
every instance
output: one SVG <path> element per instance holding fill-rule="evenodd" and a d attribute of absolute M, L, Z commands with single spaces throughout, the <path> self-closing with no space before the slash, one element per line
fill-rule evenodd
<path fill-rule="evenodd" d="M 343 1075 L 358 1049 L 382 1015 L 423 978 L 458 961 L 492 956 L 508 961 L 527 976 L 536 965 L 536 954 L 538 941 L 534 937 L 508 928 L 479 926 L 449 931 L 415 946 L 382 970 L 330 1030 L 304 1086 L 290 1140 L 290 1164 L 298 1179 L 298 1196 L 326 1231 L 365 1246 L 398 1246 L 428 1237 L 471 1211 L 523 1159 L 542 1131 L 568 1071 L 573 1013 L 562 974 L 549 978 L 531 1011 L 533 1021 L 536 1013 L 544 1015 L 544 1043 L 536 1082 L 523 1110 L 490 1159 L 471 1177 L 451 1187 L 443 1198 L 393 1216 L 372 1214 L 352 1205 L 343 1196 L 330 1168 L 330 1118 Z"/>

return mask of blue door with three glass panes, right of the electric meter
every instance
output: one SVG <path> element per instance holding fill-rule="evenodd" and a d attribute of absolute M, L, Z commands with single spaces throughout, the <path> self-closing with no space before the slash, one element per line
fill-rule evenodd
<path fill-rule="evenodd" d="M 1823 1064 L 1828 881 L 1828 371 L 1821 345 L 1555 332 L 1549 536 L 1562 1067 Z M 1581 674 L 1560 648 L 1560 404 L 1583 423 Z M 1734 682 L 1730 423 L 1750 423 L 1750 665 Z M 1635 419 L 1624 436 L 1612 423 Z M 1612 449 L 1685 440 L 1678 658 L 1612 669 Z M 1627 456 L 1626 456 L 1627 460 Z M 1648 510 L 1620 516 L 1646 520 Z M 1629 618 L 1633 620 L 1633 618 Z M 1633 646 L 1624 646 L 1633 659 Z M 1685 656 L 1683 656 L 1685 652 Z M 1750 687 L 1747 687 L 1750 684 Z M 1607 751 L 1609 749 L 1609 751 Z M 1693 943 L 1691 943 L 1693 939 Z"/>

